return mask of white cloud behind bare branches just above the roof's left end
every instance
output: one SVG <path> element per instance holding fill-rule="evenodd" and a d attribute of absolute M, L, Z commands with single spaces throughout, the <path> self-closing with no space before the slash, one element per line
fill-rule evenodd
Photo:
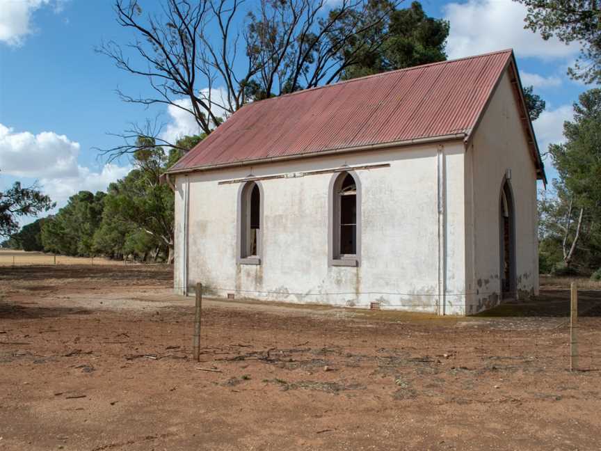
<path fill-rule="evenodd" d="M 209 96 L 209 88 L 205 88 L 200 90 L 205 99 L 208 99 Z M 211 103 L 213 104 L 211 110 L 220 118 L 225 118 L 227 116 L 227 112 L 225 109 L 221 107 L 221 105 L 227 104 L 227 91 L 225 88 L 214 88 L 210 91 L 211 93 Z M 185 109 L 192 109 L 192 104 L 189 99 L 179 99 L 175 101 L 175 104 L 181 106 Z M 170 116 L 171 121 L 161 133 L 161 139 L 168 141 L 169 143 L 175 143 L 182 136 L 200 134 L 202 130 L 196 123 L 194 116 L 185 111 L 182 108 L 178 108 L 174 105 L 169 105 L 167 107 L 167 113 Z"/>

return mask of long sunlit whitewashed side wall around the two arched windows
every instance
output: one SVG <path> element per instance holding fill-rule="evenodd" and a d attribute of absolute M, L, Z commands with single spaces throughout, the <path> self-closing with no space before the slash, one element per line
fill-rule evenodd
<path fill-rule="evenodd" d="M 464 145 L 444 144 L 447 221 L 444 312 L 465 313 Z M 211 296 L 436 312 L 439 283 L 437 145 L 299 159 L 191 173 L 176 178 L 175 288 L 183 292 L 184 189 L 189 179 L 188 285 Z M 239 177 L 342 165 L 390 163 L 357 171 L 362 187 L 360 267 L 328 266 L 328 187 L 332 173 L 262 180 L 260 265 L 236 262 Z"/>

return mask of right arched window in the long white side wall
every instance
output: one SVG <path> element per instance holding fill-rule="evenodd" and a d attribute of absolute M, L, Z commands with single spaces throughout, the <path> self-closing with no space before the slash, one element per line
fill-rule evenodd
<path fill-rule="evenodd" d="M 361 191 L 355 173 L 342 172 L 330 182 L 330 264 L 358 266 L 361 243 Z"/>

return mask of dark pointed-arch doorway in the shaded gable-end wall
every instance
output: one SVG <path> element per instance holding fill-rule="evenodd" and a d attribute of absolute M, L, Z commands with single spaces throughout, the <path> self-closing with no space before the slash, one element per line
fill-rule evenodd
<path fill-rule="evenodd" d="M 499 250 L 501 295 L 515 297 L 515 207 L 509 180 L 504 179 L 499 201 Z"/>

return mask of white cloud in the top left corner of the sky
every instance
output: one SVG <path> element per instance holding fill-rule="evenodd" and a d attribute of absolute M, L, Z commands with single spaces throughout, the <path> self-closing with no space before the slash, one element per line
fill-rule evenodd
<path fill-rule="evenodd" d="M 51 0 L 0 0 L 0 41 L 8 45 L 22 45 L 26 35 L 33 33 L 31 16 L 48 6 Z M 55 1 L 55 10 L 62 8 L 62 1 Z"/>

